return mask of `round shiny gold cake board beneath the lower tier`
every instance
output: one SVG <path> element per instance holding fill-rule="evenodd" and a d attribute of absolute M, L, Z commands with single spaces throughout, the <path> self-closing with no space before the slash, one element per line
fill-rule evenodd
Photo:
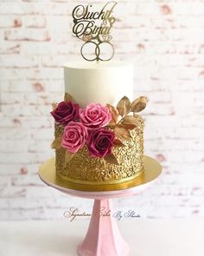
<path fill-rule="evenodd" d="M 150 156 L 144 156 L 144 171 L 143 174 L 137 176 L 131 181 L 124 181 L 117 184 L 103 184 L 103 185 L 90 185 L 90 184 L 80 184 L 71 181 L 65 181 L 56 174 L 55 170 L 55 158 L 45 161 L 40 169 L 39 176 L 41 181 L 44 181 L 48 186 L 59 187 L 59 188 L 69 188 L 73 190 L 80 191 L 114 191 L 123 190 L 131 187 L 137 187 L 154 181 L 159 174 L 162 173 L 162 166 L 160 163 Z"/>

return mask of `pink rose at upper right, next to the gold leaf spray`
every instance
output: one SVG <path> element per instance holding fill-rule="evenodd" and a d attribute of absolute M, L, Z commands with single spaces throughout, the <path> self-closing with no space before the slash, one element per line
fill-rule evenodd
<path fill-rule="evenodd" d="M 80 121 L 86 128 L 101 128 L 111 120 L 112 114 L 109 109 L 100 104 L 91 103 L 86 108 L 80 108 Z"/>

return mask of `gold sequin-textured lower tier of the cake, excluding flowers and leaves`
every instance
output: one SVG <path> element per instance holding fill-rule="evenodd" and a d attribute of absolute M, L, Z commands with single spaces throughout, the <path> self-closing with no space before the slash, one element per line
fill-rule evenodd
<path fill-rule="evenodd" d="M 71 161 L 64 166 L 65 149 L 56 149 L 55 165 L 56 172 L 67 181 L 81 183 L 105 184 L 123 182 L 124 179 L 135 178 L 143 173 L 143 127 L 144 121 L 141 116 L 137 116 L 139 126 L 132 129 L 131 139 L 123 141 L 124 147 L 113 148 L 112 153 L 118 160 L 118 165 L 107 163 L 104 159 L 93 158 L 89 155 L 86 146 L 74 154 Z M 63 133 L 61 125 L 55 125 L 55 138 Z"/>

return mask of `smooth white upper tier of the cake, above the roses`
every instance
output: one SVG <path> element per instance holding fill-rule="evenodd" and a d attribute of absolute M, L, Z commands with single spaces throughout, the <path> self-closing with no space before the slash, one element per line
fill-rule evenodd
<path fill-rule="evenodd" d="M 89 103 L 116 105 L 132 98 L 133 65 L 128 62 L 70 62 L 64 66 L 65 91 L 85 107 Z"/>

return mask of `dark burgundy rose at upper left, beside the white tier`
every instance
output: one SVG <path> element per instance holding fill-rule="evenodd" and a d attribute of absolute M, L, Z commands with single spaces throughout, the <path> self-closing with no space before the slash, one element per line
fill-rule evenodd
<path fill-rule="evenodd" d="M 56 122 L 66 126 L 69 121 L 75 121 L 79 118 L 79 109 L 80 106 L 73 102 L 61 102 L 50 114 L 53 115 Z"/>

